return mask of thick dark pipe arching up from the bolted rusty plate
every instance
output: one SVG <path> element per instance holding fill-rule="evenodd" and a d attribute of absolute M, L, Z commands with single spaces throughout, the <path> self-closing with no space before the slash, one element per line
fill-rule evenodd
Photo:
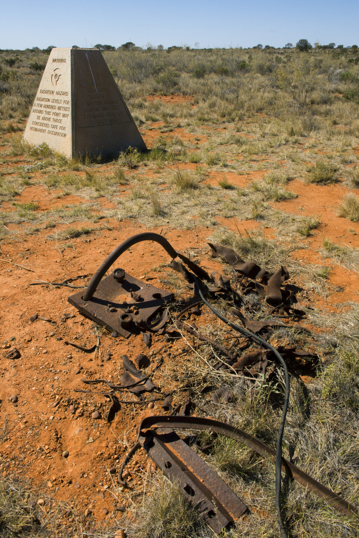
<path fill-rule="evenodd" d="M 159 243 L 163 248 L 165 249 L 168 254 L 172 258 L 177 258 L 178 254 L 174 250 L 174 248 L 171 246 L 170 243 L 168 243 L 167 239 L 165 239 L 163 236 L 160 236 L 159 233 L 153 233 L 153 232 L 143 232 L 143 233 L 137 233 L 137 235 L 129 237 L 125 241 L 121 243 L 121 245 L 118 245 L 115 250 L 112 250 L 111 254 L 102 262 L 100 267 L 98 267 L 96 273 L 91 278 L 89 285 L 87 286 L 85 293 L 82 295 L 82 299 L 84 301 L 89 301 L 93 294 L 95 293 L 98 284 L 100 284 L 102 277 L 104 274 L 109 270 L 111 265 L 115 263 L 117 258 L 121 256 L 125 252 L 125 250 L 129 249 L 132 245 L 136 245 L 136 243 L 140 243 L 141 241 L 156 241 L 156 243 Z"/>

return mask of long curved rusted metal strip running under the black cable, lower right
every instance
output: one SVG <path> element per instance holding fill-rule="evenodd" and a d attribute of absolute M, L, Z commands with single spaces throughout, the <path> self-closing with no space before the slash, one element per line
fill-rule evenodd
<path fill-rule="evenodd" d="M 257 452 L 261 456 L 265 456 L 272 462 L 276 461 L 276 451 L 268 447 L 253 437 L 245 433 L 245 431 L 219 422 L 217 420 L 205 419 L 202 417 L 188 416 L 186 418 L 181 416 L 149 416 L 144 419 L 137 428 L 138 437 L 143 436 L 143 430 L 147 428 L 181 428 L 181 429 L 196 429 L 196 430 L 210 430 L 215 431 L 219 435 L 226 435 L 240 441 L 247 445 L 250 449 Z M 146 432 L 147 433 L 147 432 Z M 326 499 L 330 506 L 333 506 L 338 512 L 343 515 L 359 518 L 359 510 L 356 506 L 350 504 L 350 502 L 344 500 L 337 495 L 334 491 L 329 490 L 326 486 L 307 475 L 304 471 L 299 469 L 296 465 L 288 462 L 287 459 L 281 458 L 281 464 L 283 471 L 287 471 L 299 484 L 304 486 L 309 491 L 312 491 L 318 497 Z"/>

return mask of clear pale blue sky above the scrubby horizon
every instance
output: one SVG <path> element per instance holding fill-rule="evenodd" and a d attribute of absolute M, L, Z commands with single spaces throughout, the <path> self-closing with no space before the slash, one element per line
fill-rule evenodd
<path fill-rule="evenodd" d="M 48 45 L 281 47 L 305 38 L 359 45 L 359 3 L 257 0 L 2 0 L 0 48 Z M 4 24 L 5 22 L 5 24 Z"/>

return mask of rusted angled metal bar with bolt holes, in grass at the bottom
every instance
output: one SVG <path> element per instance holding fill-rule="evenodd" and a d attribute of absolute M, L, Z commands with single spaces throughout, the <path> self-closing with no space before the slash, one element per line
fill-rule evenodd
<path fill-rule="evenodd" d="M 141 432 L 138 441 L 164 475 L 179 483 L 215 533 L 220 534 L 247 511 L 230 487 L 173 430 Z"/>

